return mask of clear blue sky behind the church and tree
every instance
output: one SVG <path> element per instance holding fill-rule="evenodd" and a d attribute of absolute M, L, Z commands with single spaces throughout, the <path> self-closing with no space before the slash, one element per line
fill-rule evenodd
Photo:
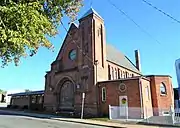
<path fill-rule="evenodd" d="M 174 63 L 180 58 L 180 24 L 149 7 L 142 0 L 111 1 L 148 31 L 153 38 L 137 28 L 107 0 L 93 0 L 92 7 L 104 18 L 107 42 L 117 47 L 133 62 L 135 62 L 134 50 L 139 49 L 142 73 L 171 75 L 173 85 L 177 87 Z M 180 20 L 179 0 L 148 1 Z M 85 0 L 78 18 L 90 7 L 91 0 Z M 67 28 L 68 20 L 67 17 L 63 18 Z M 4 90 L 44 89 L 45 72 L 50 69 L 51 62 L 56 58 L 65 34 L 65 30 L 59 27 L 59 34 L 50 39 L 55 45 L 54 52 L 41 48 L 34 57 L 22 59 L 18 67 L 10 64 L 8 67 L 0 68 L 0 88 Z"/>

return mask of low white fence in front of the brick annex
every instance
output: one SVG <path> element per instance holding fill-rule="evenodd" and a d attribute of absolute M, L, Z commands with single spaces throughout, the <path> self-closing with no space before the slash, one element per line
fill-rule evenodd
<path fill-rule="evenodd" d="M 135 121 L 151 124 L 180 124 L 180 109 L 152 107 L 110 106 L 109 118 L 119 121 Z"/>

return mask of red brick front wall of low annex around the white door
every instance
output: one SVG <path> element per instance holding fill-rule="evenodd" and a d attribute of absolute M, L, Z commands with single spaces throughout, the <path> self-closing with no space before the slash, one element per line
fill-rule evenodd
<path fill-rule="evenodd" d="M 124 83 L 127 91 L 120 92 L 119 84 Z M 108 115 L 109 105 L 119 106 L 119 96 L 128 96 L 128 107 L 140 108 L 139 79 L 108 81 L 99 84 L 100 113 Z M 106 87 L 106 101 L 102 102 L 102 88 Z"/>

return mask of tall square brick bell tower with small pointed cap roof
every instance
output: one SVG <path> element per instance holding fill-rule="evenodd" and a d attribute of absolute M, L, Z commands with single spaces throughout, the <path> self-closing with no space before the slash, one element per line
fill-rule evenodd
<path fill-rule="evenodd" d="M 103 18 L 90 8 L 79 20 L 82 65 L 93 68 L 94 84 L 107 80 L 106 35 Z"/>

